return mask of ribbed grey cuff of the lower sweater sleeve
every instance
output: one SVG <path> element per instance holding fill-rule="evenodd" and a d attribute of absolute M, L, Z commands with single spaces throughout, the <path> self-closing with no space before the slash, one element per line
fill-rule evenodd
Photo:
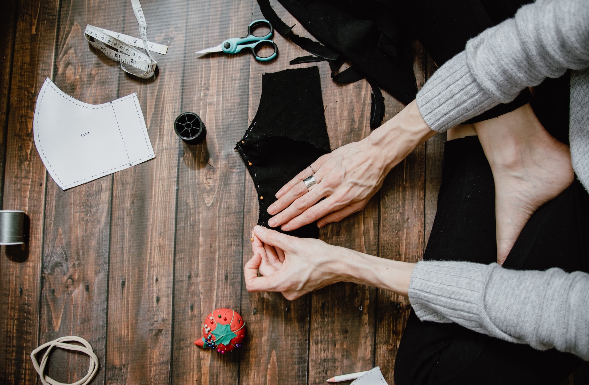
<path fill-rule="evenodd" d="M 420 261 L 409 283 L 409 301 L 422 321 L 455 322 L 479 333 L 514 341 L 488 319 L 485 288 L 497 264 Z"/>

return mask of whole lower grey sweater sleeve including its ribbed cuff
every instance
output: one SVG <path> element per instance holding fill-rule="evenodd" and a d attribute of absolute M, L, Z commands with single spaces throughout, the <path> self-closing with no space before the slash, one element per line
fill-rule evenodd
<path fill-rule="evenodd" d="M 589 274 L 581 271 L 421 261 L 409 283 L 409 301 L 422 321 L 455 322 L 589 360 Z"/>

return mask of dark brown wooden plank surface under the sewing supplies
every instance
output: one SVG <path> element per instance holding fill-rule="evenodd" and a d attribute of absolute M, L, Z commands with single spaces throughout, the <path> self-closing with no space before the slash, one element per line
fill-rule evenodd
<path fill-rule="evenodd" d="M 296 24 L 272 1 L 289 25 Z M 275 34 L 279 57 L 210 55 L 198 49 L 241 36 L 262 18 L 256 1 L 144 0 L 148 39 L 170 46 L 157 77 L 139 80 L 91 49 L 86 24 L 138 35 L 131 2 L 7 0 L 0 6 L 0 205 L 30 218 L 26 247 L 0 256 L 0 383 L 37 384 L 29 354 L 68 335 L 92 344 L 93 384 L 322 384 L 379 365 L 393 384 L 409 302 L 374 287 L 339 283 L 287 301 L 248 293 L 243 264 L 257 198 L 233 150 L 257 111 L 261 76 L 307 55 Z M 297 34 L 309 36 L 300 26 Z M 309 36 L 310 37 L 310 36 Z M 421 86 L 435 66 L 418 43 Z M 370 87 L 338 85 L 317 64 L 332 148 L 369 135 Z M 156 158 L 62 191 L 32 138 L 35 100 L 46 77 L 81 101 L 99 104 L 137 92 Z M 385 94 L 386 117 L 402 105 Z M 207 139 L 188 146 L 173 132 L 180 112 L 197 112 Z M 384 258 L 418 261 L 436 210 L 445 138 L 418 147 L 360 211 L 320 237 Z M 203 317 L 239 311 L 247 343 L 231 354 L 193 344 Z M 87 357 L 56 351 L 49 373 L 74 382 Z M 580 383 L 571 376 L 570 383 Z"/>

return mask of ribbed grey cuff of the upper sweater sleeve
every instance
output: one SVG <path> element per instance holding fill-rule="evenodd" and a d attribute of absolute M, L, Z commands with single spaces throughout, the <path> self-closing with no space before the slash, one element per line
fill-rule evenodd
<path fill-rule="evenodd" d="M 472 76 L 464 51 L 434 72 L 416 99 L 423 120 L 438 132 L 444 132 L 499 104 Z"/>

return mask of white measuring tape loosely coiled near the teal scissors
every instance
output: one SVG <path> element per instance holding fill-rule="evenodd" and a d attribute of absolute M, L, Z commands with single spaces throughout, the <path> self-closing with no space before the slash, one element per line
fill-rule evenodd
<path fill-rule="evenodd" d="M 141 39 L 109 31 L 108 29 L 98 28 L 90 24 L 86 26 L 84 37 L 92 47 L 100 49 L 112 60 L 120 62 L 123 71 L 147 79 L 153 76 L 155 67 L 157 66 L 157 62 L 151 56 L 150 51 L 166 55 L 168 46 L 147 41 L 147 22 L 143 15 L 143 9 L 141 9 L 141 3 L 139 0 L 131 0 L 131 5 L 133 5 L 133 12 L 139 24 Z M 145 49 L 147 56 L 133 47 Z M 130 65 L 143 72 L 136 74 L 135 72 L 128 71 L 125 65 Z"/>

